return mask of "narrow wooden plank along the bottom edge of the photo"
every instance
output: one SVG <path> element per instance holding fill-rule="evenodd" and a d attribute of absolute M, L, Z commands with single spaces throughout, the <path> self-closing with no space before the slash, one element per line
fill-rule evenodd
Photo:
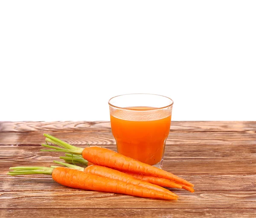
<path fill-rule="evenodd" d="M 256 210 L 254 209 L 174 209 L 174 208 L 76 208 L 76 209 L 6 209 L 0 210 L 0 217 L 17 218 L 17 217 L 93 217 L 93 218 L 195 218 L 195 217 L 207 217 L 207 218 L 255 218 Z"/>

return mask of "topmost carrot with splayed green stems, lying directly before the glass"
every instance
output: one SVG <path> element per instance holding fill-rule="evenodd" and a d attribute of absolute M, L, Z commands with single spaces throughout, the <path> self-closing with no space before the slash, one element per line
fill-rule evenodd
<path fill-rule="evenodd" d="M 134 173 L 141 173 L 147 176 L 156 176 L 161 178 L 167 178 L 173 181 L 180 182 L 189 186 L 194 186 L 192 183 L 186 181 L 183 178 L 179 178 L 172 173 L 161 170 L 157 167 L 145 164 L 143 162 L 134 160 L 132 158 L 126 157 L 122 154 L 116 153 L 113 150 L 109 150 L 103 147 L 86 147 L 84 149 L 80 147 L 75 147 L 66 142 L 61 141 L 49 134 L 44 134 L 46 136 L 46 141 L 53 144 L 57 144 L 61 147 L 55 147 L 48 144 L 42 144 L 44 147 L 53 148 L 52 150 L 42 150 L 42 151 L 61 151 L 73 154 L 82 154 L 83 158 L 90 161 L 93 164 L 113 168 L 120 171 L 128 171 Z"/>

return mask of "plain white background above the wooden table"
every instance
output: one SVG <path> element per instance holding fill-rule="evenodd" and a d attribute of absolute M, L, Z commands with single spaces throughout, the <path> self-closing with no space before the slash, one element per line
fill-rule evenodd
<path fill-rule="evenodd" d="M 256 120 L 255 74 L 255 0 L 0 2 L 2 121 L 109 120 L 125 93 Z"/>

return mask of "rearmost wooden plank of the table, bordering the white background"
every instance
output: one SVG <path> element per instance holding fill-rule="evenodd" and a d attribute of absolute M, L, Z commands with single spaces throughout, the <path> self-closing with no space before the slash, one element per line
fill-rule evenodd
<path fill-rule="evenodd" d="M 43 133 L 74 145 L 115 144 L 109 122 L 1 122 L 0 144 L 40 144 Z M 256 144 L 256 122 L 172 122 L 166 144 Z"/>

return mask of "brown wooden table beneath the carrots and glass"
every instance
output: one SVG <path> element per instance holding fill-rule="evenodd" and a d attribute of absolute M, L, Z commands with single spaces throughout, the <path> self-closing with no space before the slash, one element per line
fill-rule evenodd
<path fill-rule="evenodd" d="M 7 176 L 9 167 L 50 166 L 43 133 L 116 150 L 109 122 L 0 122 L 0 217 L 256 218 L 256 122 L 172 122 L 164 170 L 195 184 L 178 201 L 76 190 L 50 176 Z"/>

